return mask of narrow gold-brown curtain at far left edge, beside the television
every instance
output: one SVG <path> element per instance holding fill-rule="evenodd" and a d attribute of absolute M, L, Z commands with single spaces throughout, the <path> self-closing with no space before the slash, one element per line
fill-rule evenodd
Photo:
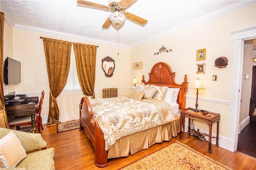
<path fill-rule="evenodd" d="M 0 127 L 9 128 L 6 110 L 4 108 L 4 13 L 0 12 Z"/>

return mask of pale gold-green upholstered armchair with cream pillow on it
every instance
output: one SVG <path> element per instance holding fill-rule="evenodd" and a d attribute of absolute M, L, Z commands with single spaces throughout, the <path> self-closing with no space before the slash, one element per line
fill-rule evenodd
<path fill-rule="evenodd" d="M 0 169 L 54 170 L 54 148 L 40 133 L 0 128 Z"/>

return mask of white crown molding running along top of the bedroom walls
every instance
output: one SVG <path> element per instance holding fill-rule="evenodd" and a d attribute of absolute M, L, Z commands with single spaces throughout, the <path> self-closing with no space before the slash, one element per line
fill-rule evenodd
<path fill-rule="evenodd" d="M 1 1 L 0 1 L 0 4 L 2 4 Z M 151 36 L 149 38 L 143 39 L 142 41 L 133 43 L 131 45 L 125 45 L 125 44 L 120 43 L 119 47 L 132 48 L 132 47 L 136 47 L 138 45 L 142 45 L 144 43 L 152 42 L 154 40 L 157 40 L 159 38 L 162 38 L 162 37 L 164 37 L 166 35 L 169 35 L 169 34 L 172 34 L 174 32 L 184 30 L 188 27 L 195 26 L 197 24 L 201 24 L 203 22 L 218 18 L 220 16 L 223 16 L 223 15 L 226 15 L 226 14 L 238 11 L 238 10 L 242 10 L 242 9 L 247 8 L 249 6 L 253 6 L 255 4 L 256 4 L 255 0 L 239 1 L 239 2 L 233 4 L 232 6 L 230 6 L 228 8 L 220 8 L 216 11 L 211 12 L 210 14 L 201 16 L 201 17 L 196 18 L 195 20 L 191 20 L 190 22 L 187 22 L 185 24 L 180 24 L 179 26 L 171 28 L 168 31 L 161 32 L 159 34 L 156 34 L 156 35 Z M 31 31 L 31 32 L 38 32 L 38 33 L 49 34 L 49 35 L 53 35 L 53 36 L 61 36 L 61 37 L 65 37 L 65 38 L 72 38 L 72 39 L 92 42 L 92 43 L 96 43 L 96 44 L 97 43 L 102 43 L 102 44 L 106 44 L 106 45 L 117 46 L 117 43 L 108 42 L 108 41 L 104 41 L 104 40 L 99 40 L 99 39 L 94 39 L 94 38 L 87 38 L 87 37 L 84 37 L 84 36 L 77 36 L 77 35 L 74 35 L 74 34 L 68 34 L 68 33 L 64 33 L 64 32 L 57 32 L 57 31 L 47 30 L 47 29 L 43 29 L 43 28 L 36 28 L 36 27 L 33 27 L 33 26 L 25 26 L 25 25 L 21 25 L 21 24 L 15 24 L 13 22 L 12 17 L 9 15 L 8 12 L 6 12 L 6 9 L 5 9 L 4 5 L 0 5 L 0 10 L 2 12 L 4 12 L 4 15 L 5 15 L 4 18 L 5 18 L 6 22 L 8 22 L 8 24 L 13 29 L 25 30 L 25 31 Z"/>

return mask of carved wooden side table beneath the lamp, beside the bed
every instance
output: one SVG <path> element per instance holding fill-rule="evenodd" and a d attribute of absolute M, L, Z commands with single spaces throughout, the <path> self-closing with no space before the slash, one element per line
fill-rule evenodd
<path fill-rule="evenodd" d="M 220 125 L 220 114 L 219 113 L 212 113 L 212 112 L 208 112 L 208 115 L 210 115 L 210 117 L 207 117 L 205 115 L 202 115 L 201 112 L 194 112 L 192 111 L 190 108 L 187 109 L 183 109 L 180 110 L 180 138 L 182 138 L 181 134 L 182 134 L 182 123 L 183 117 L 187 117 L 188 118 L 188 134 L 191 134 L 193 136 L 196 136 L 198 138 L 202 138 L 205 141 L 207 141 L 204 137 L 208 136 L 209 137 L 209 141 L 208 145 L 209 145 L 209 150 L 208 152 L 212 152 L 212 138 L 216 138 L 216 146 L 219 146 L 218 142 L 219 142 L 219 125 Z M 200 121 L 200 122 L 204 122 L 208 125 L 209 127 L 209 134 L 205 134 L 205 133 L 201 133 L 199 132 L 199 128 L 197 130 L 191 129 L 190 127 L 190 121 L 191 119 Z M 216 137 L 212 137 L 212 124 L 217 123 L 217 134 Z"/>

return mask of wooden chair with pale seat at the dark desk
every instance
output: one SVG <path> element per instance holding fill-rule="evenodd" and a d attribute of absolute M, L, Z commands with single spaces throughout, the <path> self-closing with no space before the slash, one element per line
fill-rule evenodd
<path fill-rule="evenodd" d="M 42 130 L 44 129 L 42 126 L 42 117 L 41 117 L 43 101 L 44 101 L 44 91 L 42 91 L 42 93 L 41 93 L 39 105 L 36 108 L 36 124 L 37 124 L 39 133 L 41 133 L 40 128 L 42 128 Z M 16 117 L 9 121 L 9 127 L 11 129 L 16 127 L 16 130 L 20 130 L 20 126 L 31 125 L 31 124 L 32 124 L 31 116 Z"/>

